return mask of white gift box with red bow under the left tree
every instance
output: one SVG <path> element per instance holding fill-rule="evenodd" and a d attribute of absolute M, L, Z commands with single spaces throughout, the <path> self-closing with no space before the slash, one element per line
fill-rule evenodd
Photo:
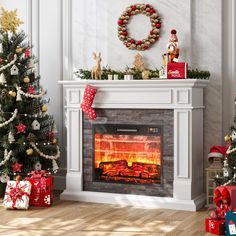
<path fill-rule="evenodd" d="M 28 209 L 30 192 L 29 181 L 8 181 L 3 206 L 7 209 Z"/>

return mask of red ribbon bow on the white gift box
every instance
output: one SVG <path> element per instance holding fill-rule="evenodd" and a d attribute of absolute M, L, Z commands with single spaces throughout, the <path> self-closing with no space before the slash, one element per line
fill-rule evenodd
<path fill-rule="evenodd" d="M 21 181 L 16 181 L 16 185 L 9 184 L 8 189 L 5 192 L 5 195 L 7 195 L 6 201 L 12 201 L 12 208 L 16 207 L 16 201 L 20 200 L 24 202 L 23 196 L 29 197 L 29 193 L 26 191 L 28 188 L 28 185 L 25 183 L 23 185 L 20 185 Z"/>

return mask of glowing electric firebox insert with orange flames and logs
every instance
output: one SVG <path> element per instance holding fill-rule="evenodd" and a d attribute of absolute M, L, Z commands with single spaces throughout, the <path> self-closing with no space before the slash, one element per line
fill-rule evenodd
<path fill-rule="evenodd" d="M 161 126 L 93 125 L 94 181 L 161 183 Z"/>

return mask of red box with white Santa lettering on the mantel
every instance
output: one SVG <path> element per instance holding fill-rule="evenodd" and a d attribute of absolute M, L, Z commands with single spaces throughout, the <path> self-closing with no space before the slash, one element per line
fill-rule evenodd
<path fill-rule="evenodd" d="M 188 63 L 169 62 L 166 71 L 167 79 L 186 79 L 188 77 Z"/>

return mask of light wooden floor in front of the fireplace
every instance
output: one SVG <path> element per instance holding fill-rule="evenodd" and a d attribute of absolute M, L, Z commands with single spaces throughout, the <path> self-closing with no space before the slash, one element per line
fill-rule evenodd
<path fill-rule="evenodd" d="M 202 236 L 207 211 L 147 210 L 107 204 L 56 201 L 27 211 L 0 207 L 0 235 Z"/>

